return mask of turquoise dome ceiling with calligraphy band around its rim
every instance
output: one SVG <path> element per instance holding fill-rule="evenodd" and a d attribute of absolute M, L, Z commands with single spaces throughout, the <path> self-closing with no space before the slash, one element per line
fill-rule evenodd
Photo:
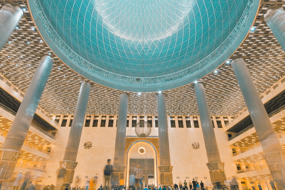
<path fill-rule="evenodd" d="M 70 68 L 101 85 L 159 91 L 221 65 L 245 38 L 254 0 L 30 0 L 38 30 Z"/>

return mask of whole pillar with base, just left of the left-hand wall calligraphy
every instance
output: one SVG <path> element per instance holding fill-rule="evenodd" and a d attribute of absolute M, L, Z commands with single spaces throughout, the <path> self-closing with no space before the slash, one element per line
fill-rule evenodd
<path fill-rule="evenodd" d="M 69 186 L 72 183 L 74 171 L 78 164 L 78 162 L 76 162 L 76 157 L 84 124 L 90 89 L 90 83 L 83 82 L 81 84 L 68 141 L 64 152 L 64 158 L 63 161 L 60 162 L 61 169 L 66 168 L 66 176 L 64 177 L 63 181 L 65 183 L 65 186 Z"/>

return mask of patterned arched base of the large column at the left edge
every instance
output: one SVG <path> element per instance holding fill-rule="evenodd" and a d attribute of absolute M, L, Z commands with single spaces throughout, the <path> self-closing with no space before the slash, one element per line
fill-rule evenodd
<path fill-rule="evenodd" d="M 16 150 L 0 150 L 0 178 L 11 178 L 21 152 Z"/>

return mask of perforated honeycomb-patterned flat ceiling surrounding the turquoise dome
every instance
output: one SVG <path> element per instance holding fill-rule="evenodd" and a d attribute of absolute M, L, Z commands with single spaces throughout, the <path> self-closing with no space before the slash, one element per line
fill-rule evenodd
<path fill-rule="evenodd" d="M 3 6 L 6 1 L 1 0 Z M 40 107 L 50 114 L 74 114 L 80 85 L 86 78 L 68 68 L 42 41 L 31 19 L 27 1 L 13 1 L 27 9 L 25 16 L 0 52 L 0 72 L 24 93 L 43 55 L 56 60 L 40 101 Z M 245 59 L 258 92 L 261 94 L 284 76 L 284 51 L 264 22 L 262 15 L 274 5 L 284 6 L 281 0 L 262 0 L 253 28 L 234 57 Z M 245 107 L 241 91 L 230 65 L 223 63 L 209 75 L 198 80 L 205 86 L 211 115 L 236 115 Z M 91 83 L 86 114 L 117 114 L 119 95 L 123 91 Z M 127 92 L 129 115 L 157 115 L 156 93 Z M 163 91 L 168 115 L 198 115 L 193 84 Z"/>

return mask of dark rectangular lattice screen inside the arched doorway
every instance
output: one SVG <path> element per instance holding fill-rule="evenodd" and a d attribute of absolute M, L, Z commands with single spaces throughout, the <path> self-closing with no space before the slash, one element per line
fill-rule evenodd
<path fill-rule="evenodd" d="M 138 169 L 139 168 L 139 169 Z M 141 169 L 141 170 L 140 170 Z M 129 177 L 129 186 L 135 185 L 135 178 L 138 177 L 137 173 L 141 172 L 141 177 L 145 182 L 145 185 L 148 184 L 148 177 L 154 176 L 154 159 L 134 159 L 130 158 L 130 177 Z M 151 184 L 148 184 L 151 185 Z"/>

